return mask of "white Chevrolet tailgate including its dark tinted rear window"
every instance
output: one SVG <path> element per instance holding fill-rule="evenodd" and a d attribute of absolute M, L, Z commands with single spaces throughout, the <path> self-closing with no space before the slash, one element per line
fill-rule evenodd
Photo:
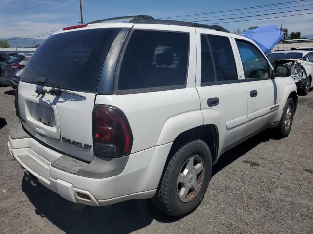
<path fill-rule="evenodd" d="M 92 161 L 92 111 L 97 85 L 119 31 L 98 28 L 62 32 L 46 39 L 35 51 L 18 90 L 20 116 L 31 135 L 64 154 Z M 52 88 L 64 91 L 60 95 L 38 94 L 38 90 Z"/>

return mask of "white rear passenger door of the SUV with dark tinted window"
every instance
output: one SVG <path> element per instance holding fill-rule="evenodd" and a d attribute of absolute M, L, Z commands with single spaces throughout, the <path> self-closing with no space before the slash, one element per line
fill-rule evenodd
<path fill-rule="evenodd" d="M 246 127 L 246 87 L 230 34 L 196 29 L 197 76 L 204 124 L 219 131 L 219 154 L 241 140 Z M 217 35 L 216 35 L 217 34 Z M 235 55 L 234 55 L 235 54 Z"/>

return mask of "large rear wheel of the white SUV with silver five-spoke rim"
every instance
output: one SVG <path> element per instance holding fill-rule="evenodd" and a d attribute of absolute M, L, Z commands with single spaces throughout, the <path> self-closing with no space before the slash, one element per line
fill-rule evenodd
<path fill-rule="evenodd" d="M 168 159 L 153 204 L 172 217 L 188 215 L 201 203 L 211 173 L 212 156 L 207 144 L 202 140 L 185 144 Z"/>

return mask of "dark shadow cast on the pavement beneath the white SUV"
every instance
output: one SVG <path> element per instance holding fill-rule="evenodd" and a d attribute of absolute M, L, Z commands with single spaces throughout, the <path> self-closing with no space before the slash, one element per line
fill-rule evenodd
<path fill-rule="evenodd" d="M 268 131 L 264 131 L 225 153 L 213 168 L 213 176 L 253 147 L 268 141 L 268 136 Z M 127 234 L 150 225 L 153 220 L 163 223 L 178 220 L 163 215 L 150 200 L 92 207 L 69 202 L 42 185 L 32 187 L 25 180 L 22 181 L 22 190 L 35 206 L 37 215 L 47 218 L 66 233 Z"/>

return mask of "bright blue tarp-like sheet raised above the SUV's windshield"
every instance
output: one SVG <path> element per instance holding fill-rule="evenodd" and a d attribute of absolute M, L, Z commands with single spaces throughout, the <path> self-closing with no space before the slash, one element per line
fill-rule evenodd
<path fill-rule="evenodd" d="M 242 35 L 252 39 L 266 55 L 284 38 L 284 33 L 276 25 L 247 30 Z"/>

